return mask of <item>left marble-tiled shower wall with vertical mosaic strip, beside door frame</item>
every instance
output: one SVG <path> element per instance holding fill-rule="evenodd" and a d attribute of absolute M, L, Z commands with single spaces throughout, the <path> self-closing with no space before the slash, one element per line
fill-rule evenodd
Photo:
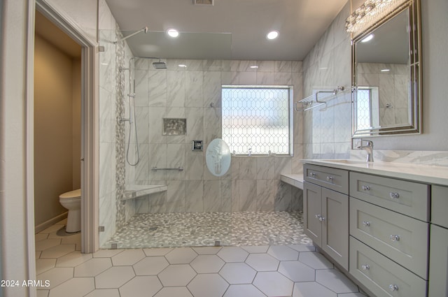
<path fill-rule="evenodd" d="M 104 46 L 104 52 L 99 53 L 99 226 L 105 226 L 105 231 L 99 233 L 102 245 L 125 222 L 125 209 L 117 201 L 117 192 L 125 184 L 124 138 L 118 136 L 123 133 L 117 133 L 117 119 L 124 111 L 118 101 L 123 86 L 118 83 L 122 62 L 117 53 L 124 55 L 125 60 L 132 56 L 127 45 L 118 48 L 113 43 L 119 30 L 104 0 L 99 1 L 99 29 L 99 45 Z"/>

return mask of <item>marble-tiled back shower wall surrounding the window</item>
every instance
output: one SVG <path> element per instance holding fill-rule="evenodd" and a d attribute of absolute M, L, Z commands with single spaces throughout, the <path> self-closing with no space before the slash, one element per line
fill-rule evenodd
<path fill-rule="evenodd" d="M 137 59 L 135 71 L 137 135 L 141 160 L 135 184 L 167 184 L 168 190 L 136 200 L 135 210 L 147 212 L 230 212 L 297 210 L 301 190 L 280 182 L 280 173 L 301 171 L 302 125 L 295 117 L 295 157 L 232 157 L 230 171 L 211 175 L 204 152 L 221 138 L 221 85 L 293 85 L 295 101 L 302 96 L 300 61 L 167 60 L 155 70 L 152 60 Z M 250 65 L 258 65 L 258 69 Z M 186 68 L 179 68 L 186 64 Z M 211 107 L 211 103 L 214 103 Z M 162 118 L 186 118 L 181 136 L 162 136 Z M 192 151 L 192 140 L 204 140 L 204 152 Z M 184 171 L 151 171 L 183 166 Z M 132 208 L 133 205 L 129 205 Z"/>

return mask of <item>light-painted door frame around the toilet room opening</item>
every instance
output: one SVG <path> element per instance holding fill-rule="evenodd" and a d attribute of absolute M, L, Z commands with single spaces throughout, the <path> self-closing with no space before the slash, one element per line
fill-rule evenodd
<path fill-rule="evenodd" d="M 92 41 L 70 17 L 57 12 L 45 0 L 36 0 L 29 11 L 27 77 L 28 89 L 34 90 L 34 15 L 35 10 L 45 15 L 59 29 L 81 45 L 81 252 L 96 252 L 98 234 L 98 52 L 97 41 Z M 32 41 L 32 42 L 31 42 Z M 32 45 L 32 46 L 31 46 Z M 34 242 L 34 91 L 27 94 L 27 217 L 28 241 Z M 34 246 L 34 245 L 33 245 Z M 32 251 L 34 253 L 34 251 Z"/>

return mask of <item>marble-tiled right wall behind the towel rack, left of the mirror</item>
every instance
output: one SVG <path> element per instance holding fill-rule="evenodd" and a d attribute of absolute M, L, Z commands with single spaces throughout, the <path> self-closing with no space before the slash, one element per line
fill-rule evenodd
<path fill-rule="evenodd" d="M 313 90 L 351 88 L 350 35 L 344 30 L 349 2 L 303 61 L 304 96 Z M 351 149 L 351 94 L 340 94 L 323 108 L 303 114 L 305 159 L 348 158 Z"/>

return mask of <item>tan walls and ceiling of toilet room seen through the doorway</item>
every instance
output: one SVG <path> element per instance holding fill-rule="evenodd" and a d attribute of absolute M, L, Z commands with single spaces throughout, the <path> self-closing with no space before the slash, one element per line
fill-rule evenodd
<path fill-rule="evenodd" d="M 36 11 L 34 36 L 34 224 L 67 215 L 59 195 L 80 189 L 81 46 Z M 80 217 L 78 219 L 80 221 Z"/>

